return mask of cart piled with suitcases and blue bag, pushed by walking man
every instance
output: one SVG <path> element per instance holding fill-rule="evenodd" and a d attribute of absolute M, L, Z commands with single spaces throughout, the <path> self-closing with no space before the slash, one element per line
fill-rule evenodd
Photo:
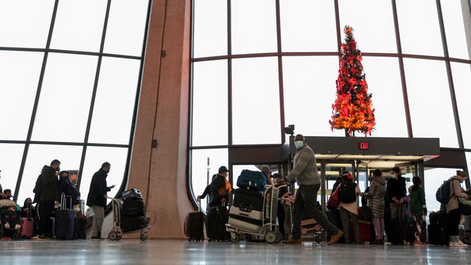
<path fill-rule="evenodd" d="M 243 170 L 240 174 L 226 225 L 226 230 L 231 232 L 231 242 L 238 242 L 239 234 L 264 238 L 269 243 L 283 239 L 283 235 L 274 230 L 279 187 L 267 185 L 268 179 L 262 172 Z"/>

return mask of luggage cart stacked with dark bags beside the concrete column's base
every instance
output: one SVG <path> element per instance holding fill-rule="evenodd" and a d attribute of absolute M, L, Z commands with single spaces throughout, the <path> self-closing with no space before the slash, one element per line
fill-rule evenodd
<path fill-rule="evenodd" d="M 140 239 L 147 240 L 149 218 L 145 217 L 146 208 L 142 193 L 137 189 L 121 193 L 121 199 L 112 199 L 114 225 L 108 234 L 109 240 L 121 240 L 123 233 L 140 232 Z"/>

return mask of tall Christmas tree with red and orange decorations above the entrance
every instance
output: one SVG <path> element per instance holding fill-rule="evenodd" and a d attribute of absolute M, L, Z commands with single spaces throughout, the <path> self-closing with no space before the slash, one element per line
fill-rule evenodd
<path fill-rule="evenodd" d="M 355 131 L 371 135 L 374 125 L 372 94 L 368 93 L 362 66 L 362 54 L 357 49 L 353 28 L 346 25 L 345 44 L 341 44 L 341 56 L 336 80 L 337 99 L 332 104 L 329 121 L 331 130 L 344 129 L 345 136 L 354 136 Z"/>

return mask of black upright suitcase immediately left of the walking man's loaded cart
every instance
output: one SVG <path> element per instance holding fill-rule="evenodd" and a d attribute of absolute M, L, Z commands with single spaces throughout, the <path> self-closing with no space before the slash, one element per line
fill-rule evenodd
<path fill-rule="evenodd" d="M 221 241 L 228 239 L 226 223 L 228 221 L 225 206 L 209 208 L 206 220 L 206 235 L 209 241 Z"/>

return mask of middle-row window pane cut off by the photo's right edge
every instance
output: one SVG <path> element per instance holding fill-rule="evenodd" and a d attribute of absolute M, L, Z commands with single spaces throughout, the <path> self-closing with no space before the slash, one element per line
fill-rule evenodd
<path fill-rule="evenodd" d="M 456 104 L 460 116 L 461 134 L 465 148 L 471 148 L 471 104 L 470 80 L 471 65 L 451 63 L 453 85 L 455 87 Z M 470 165 L 471 166 L 471 165 Z"/>

